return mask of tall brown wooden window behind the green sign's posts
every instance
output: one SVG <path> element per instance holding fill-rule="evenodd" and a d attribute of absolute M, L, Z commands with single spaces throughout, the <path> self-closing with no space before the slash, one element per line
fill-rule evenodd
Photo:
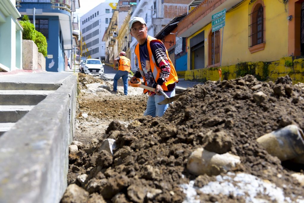
<path fill-rule="evenodd" d="M 214 39 L 215 37 L 215 39 Z M 219 65 L 220 62 L 220 32 L 210 32 L 209 34 L 209 47 L 208 47 L 208 64 Z"/>

